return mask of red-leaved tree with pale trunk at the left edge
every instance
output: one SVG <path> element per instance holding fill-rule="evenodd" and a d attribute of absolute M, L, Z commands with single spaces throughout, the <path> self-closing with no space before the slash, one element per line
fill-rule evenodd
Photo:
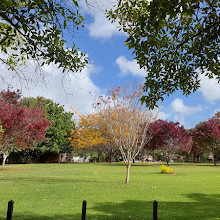
<path fill-rule="evenodd" d="M 33 146 L 42 141 L 50 125 L 42 109 L 23 107 L 20 100 L 19 91 L 7 90 L 0 93 L 0 121 L 4 130 L 0 145 L 3 166 L 14 148 Z"/>

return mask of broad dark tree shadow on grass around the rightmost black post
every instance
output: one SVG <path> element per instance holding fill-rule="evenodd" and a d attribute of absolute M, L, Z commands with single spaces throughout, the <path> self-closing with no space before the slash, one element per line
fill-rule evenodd
<path fill-rule="evenodd" d="M 201 220 L 220 219 L 220 195 L 188 194 L 191 202 L 158 201 L 159 220 Z M 111 214 L 112 219 L 153 219 L 153 201 L 132 201 L 113 204 L 105 203 L 94 207 L 95 210 Z M 104 219 L 104 218 L 103 218 Z M 111 218 L 108 218 L 111 219 Z"/>

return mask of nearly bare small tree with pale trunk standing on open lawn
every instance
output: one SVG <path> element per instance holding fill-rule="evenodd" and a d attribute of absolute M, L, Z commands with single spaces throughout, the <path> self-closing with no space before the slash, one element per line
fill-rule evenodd
<path fill-rule="evenodd" d="M 131 163 L 149 141 L 147 130 L 156 118 L 155 112 L 146 111 L 141 105 L 141 96 L 142 86 L 138 88 L 128 83 L 124 88 L 111 89 L 108 96 L 99 97 L 95 102 L 126 164 L 126 184 L 129 183 Z"/>

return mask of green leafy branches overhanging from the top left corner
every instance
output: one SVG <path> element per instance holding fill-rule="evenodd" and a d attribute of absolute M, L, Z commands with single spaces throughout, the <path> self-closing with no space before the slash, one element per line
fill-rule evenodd
<path fill-rule="evenodd" d="M 73 43 L 67 48 L 64 31 L 84 25 L 76 0 L 1 0 L 0 61 L 16 70 L 26 59 L 40 66 L 55 63 L 65 71 L 79 71 L 87 63 Z"/>

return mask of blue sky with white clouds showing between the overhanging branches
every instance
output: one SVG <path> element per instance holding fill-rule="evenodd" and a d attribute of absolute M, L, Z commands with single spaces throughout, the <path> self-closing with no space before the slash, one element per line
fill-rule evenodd
<path fill-rule="evenodd" d="M 124 46 L 126 35 L 118 31 L 117 24 L 111 24 L 105 18 L 104 9 L 109 9 L 112 4 L 106 0 L 94 2 L 91 3 L 94 7 L 88 7 L 85 1 L 80 3 L 86 26 L 73 38 L 90 59 L 89 66 L 82 73 L 63 78 L 61 70 L 49 65 L 43 68 L 45 78 L 37 77 L 36 65 L 28 61 L 27 67 L 21 67 L 21 72 L 37 82 L 36 86 L 30 84 L 29 88 L 24 85 L 21 87 L 17 78 L 13 77 L 16 74 L 0 66 L 6 84 L 22 88 L 24 96 L 44 96 L 64 105 L 67 111 L 71 111 L 69 107 L 72 105 L 80 113 L 87 114 L 92 111 L 93 97 L 104 93 L 107 88 L 143 80 L 146 73 L 139 69 L 132 51 Z M 70 46 L 71 38 L 65 38 L 68 39 L 67 46 Z M 5 88 L 4 83 L 0 86 Z M 201 76 L 201 88 L 196 93 L 185 97 L 178 91 L 165 98 L 159 106 L 162 119 L 179 121 L 186 128 L 191 128 L 220 110 L 220 85 L 214 79 Z"/>

